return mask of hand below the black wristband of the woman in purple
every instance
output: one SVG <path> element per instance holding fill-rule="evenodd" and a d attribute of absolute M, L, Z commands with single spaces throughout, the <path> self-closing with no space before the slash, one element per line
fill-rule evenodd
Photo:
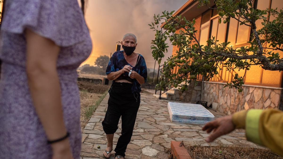
<path fill-rule="evenodd" d="M 73 159 L 69 139 L 51 144 L 53 149 L 52 159 Z"/>

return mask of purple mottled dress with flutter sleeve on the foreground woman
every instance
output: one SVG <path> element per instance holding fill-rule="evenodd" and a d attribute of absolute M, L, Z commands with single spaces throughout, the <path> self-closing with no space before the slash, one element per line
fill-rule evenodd
<path fill-rule="evenodd" d="M 91 38 L 77 0 L 9 0 L 0 32 L 0 158 L 50 159 L 52 150 L 27 84 L 24 30 L 61 46 L 57 71 L 65 126 L 80 158 L 80 98 L 76 68 L 89 56 Z"/>

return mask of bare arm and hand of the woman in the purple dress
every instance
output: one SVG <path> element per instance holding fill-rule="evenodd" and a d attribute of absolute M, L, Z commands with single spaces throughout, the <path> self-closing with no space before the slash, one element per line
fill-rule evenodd
<path fill-rule="evenodd" d="M 31 30 L 27 29 L 25 35 L 26 71 L 31 97 L 47 138 L 55 140 L 67 133 L 63 121 L 61 89 L 56 68 L 60 47 Z M 63 158 L 72 158 L 68 139 L 53 143 L 51 146 L 53 158 L 56 158 L 54 156 L 58 153 L 64 153 Z"/>

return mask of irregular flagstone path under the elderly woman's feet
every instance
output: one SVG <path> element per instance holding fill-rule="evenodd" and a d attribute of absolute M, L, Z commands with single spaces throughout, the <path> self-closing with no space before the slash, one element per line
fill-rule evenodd
<path fill-rule="evenodd" d="M 93 116 L 85 126 L 82 133 L 82 159 L 103 158 L 102 154 L 107 147 L 107 139 L 102 128 L 102 121 L 107 110 L 109 94 L 100 103 Z M 219 137 L 212 143 L 205 142 L 208 134 L 201 131 L 203 125 L 172 123 L 167 109 L 167 100 L 158 100 L 152 94 L 141 93 L 141 103 L 134 126 L 134 132 L 129 143 L 125 158 L 165 159 L 168 154 L 165 148 L 170 148 L 171 141 L 184 141 L 185 145 L 216 146 L 239 145 L 245 147 L 258 147 L 246 141 L 244 130 Z M 209 109 L 215 117 L 225 114 Z M 114 135 L 113 151 L 121 135 L 121 119 L 118 130 Z M 97 148 L 100 145 L 100 149 Z M 114 156 L 111 157 L 114 159 Z"/>

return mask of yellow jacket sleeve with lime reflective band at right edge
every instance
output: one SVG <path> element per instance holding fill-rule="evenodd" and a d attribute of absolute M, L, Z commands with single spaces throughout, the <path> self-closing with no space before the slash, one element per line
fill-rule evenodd
<path fill-rule="evenodd" d="M 268 147 L 283 156 L 283 112 L 250 109 L 233 114 L 236 128 L 245 128 L 247 140 Z"/>

